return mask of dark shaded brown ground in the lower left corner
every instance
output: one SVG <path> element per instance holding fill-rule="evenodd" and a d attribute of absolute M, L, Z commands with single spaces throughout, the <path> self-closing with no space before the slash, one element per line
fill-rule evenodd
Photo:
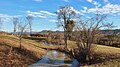
<path fill-rule="evenodd" d="M 33 52 L 18 47 L 12 47 L 5 43 L 0 43 L 0 67 L 28 66 L 37 62 L 38 58 Z"/>

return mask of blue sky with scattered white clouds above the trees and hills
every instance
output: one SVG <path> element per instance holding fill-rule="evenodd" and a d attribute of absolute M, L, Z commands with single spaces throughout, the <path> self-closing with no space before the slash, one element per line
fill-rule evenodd
<path fill-rule="evenodd" d="M 91 18 L 96 11 L 106 14 L 106 22 L 120 28 L 120 0 L 0 0 L 1 30 L 12 32 L 12 18 L 24 20 L 28 15 L 34 17 L 33 31 L 61 30 L 55 12 L 66 5 L 85 18 Z"/>

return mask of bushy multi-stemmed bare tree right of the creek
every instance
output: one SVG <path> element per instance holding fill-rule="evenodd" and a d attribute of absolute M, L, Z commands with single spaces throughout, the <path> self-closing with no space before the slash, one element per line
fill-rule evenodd
<path fill-rule="evenodd" d="M 99 14 L 85 21 L 79 18 L 75 32 L 77 48 L 70 51 L 79 62 L 83 63 L 90 60 L 95 35 L 104 27 L 103 21 L 105 18 L 106 15 Z"/>

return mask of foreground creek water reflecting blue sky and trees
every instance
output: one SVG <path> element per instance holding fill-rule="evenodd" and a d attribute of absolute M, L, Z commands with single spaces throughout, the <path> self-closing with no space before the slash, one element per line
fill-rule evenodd
<path fill-rule="evenodd" d="M 50 50 L 47 51 L 41 60 L 29 67 L 77 67 L 78 64 L 78 61 L 69 55 L 56 50 Z"/>

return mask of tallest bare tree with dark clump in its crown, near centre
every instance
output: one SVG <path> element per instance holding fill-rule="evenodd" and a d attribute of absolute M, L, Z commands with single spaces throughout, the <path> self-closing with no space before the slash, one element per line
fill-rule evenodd
<path fill-rule="evenodd" d="M 68 38 L 68 31 L 70 28 L 70 24 L 73 23 L 73 18 L 75 16 L 74 10 L 69 6 L 61 7 L 58 11 L 58 26 L 62 26 L 64 29 L 64 41 L 65 41 L 65 49 L 67 49 L 67 38 Z M 72 26 L 72 25 L 71 25 Z"/>

